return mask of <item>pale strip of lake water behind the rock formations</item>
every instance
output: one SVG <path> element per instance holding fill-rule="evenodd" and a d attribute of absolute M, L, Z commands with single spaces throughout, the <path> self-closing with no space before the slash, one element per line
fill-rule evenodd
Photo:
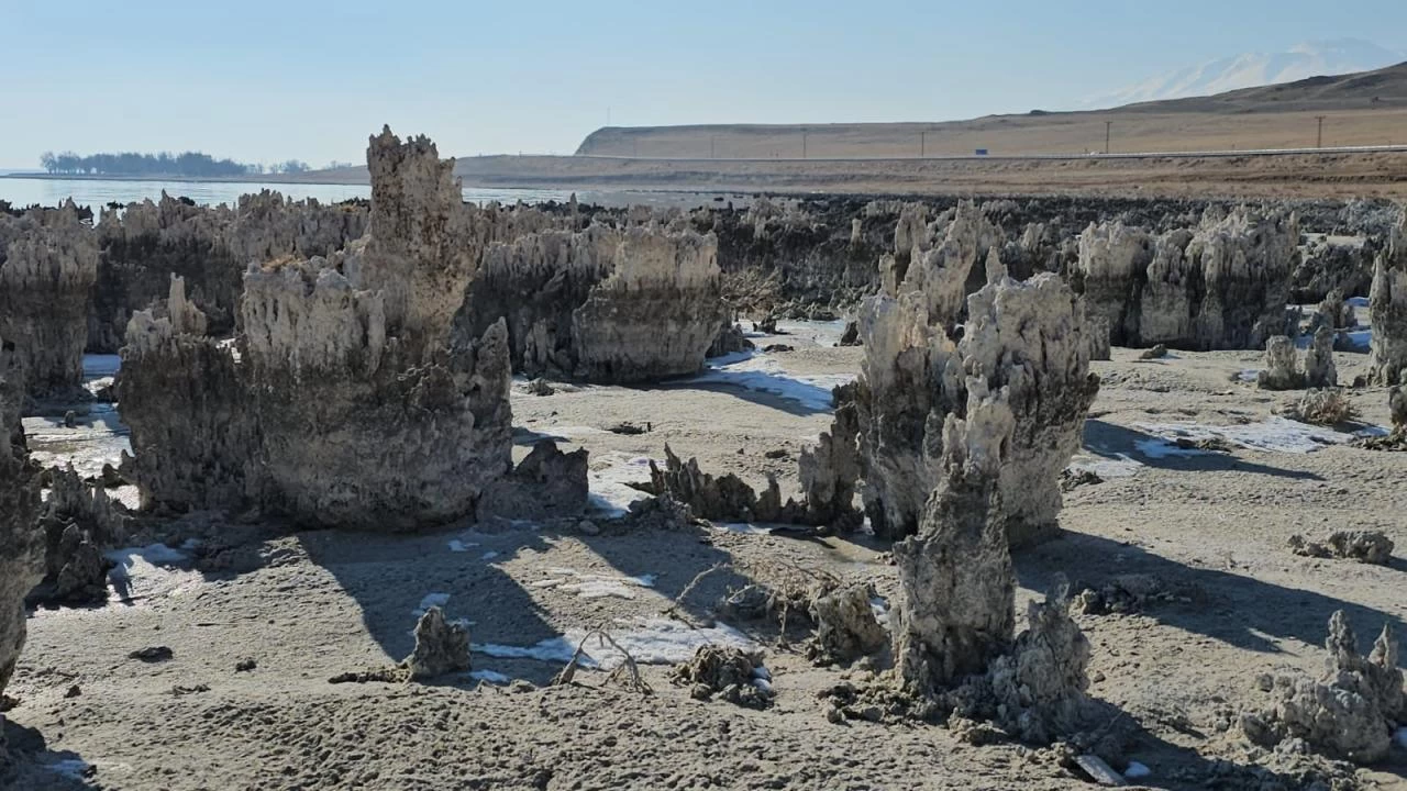
<path fill-rule="evenodd" d="M 13 205 L 56 205 L 72 197 L 79 205 L 97 211 L 108 203 L 135 203 L 144 198 L 160 200 L 162 190 L 172 197 L 189 197 L 198 204 L 235 205 L 239 196 L 259 190 L 277 190 L 284 197 L 303 200 L 315 197 L 322 203 L 336 203 L 348 198 L 371 197 L 370 184 L 281 184 L 267 182 L 129 182 L 107 179 L 24 179 L 0 177 L 0 200 Z M 473 203 L 499 201 L 505 204 L 542 203 L 545 200 L 566 201 L 574 190 L 512 189 L 512 187 L 464 187 L 464 200 Z M 599 191 L 575 190 L 577 200 L 598 205 L 719 205 L 723 200 L 746 205 L 750 198 L 741 194 L 674 193 L 674 191 Z"/>

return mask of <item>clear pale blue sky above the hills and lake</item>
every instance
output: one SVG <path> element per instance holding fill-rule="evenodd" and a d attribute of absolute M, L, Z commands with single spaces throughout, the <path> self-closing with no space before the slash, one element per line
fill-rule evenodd
<path fill-rule="evenodd" d="M 0 166 L 45 151 L 571 153 L 606 125 L 944 121 L 1362 38 L 1403 0 L 0 0 Z"/>

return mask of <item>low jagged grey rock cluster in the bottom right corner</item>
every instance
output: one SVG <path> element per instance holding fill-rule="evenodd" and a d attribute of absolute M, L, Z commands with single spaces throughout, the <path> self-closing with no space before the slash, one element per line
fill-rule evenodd
<path fill-rule="evenodd" d="M 1399 646 L 1384 625 L 1368 656 L 1344 611 L 1328 622 L 1325 670 L 1318 678 L 1262 676 L 1258 685 L 1272 702 L 1241 718 L 1245 735 L 1258 745 L 1303 739 L 1330 757 L 1355 763 L 1382 760 L 1392 747 L 1392 728 L 1407 716 Z"/>

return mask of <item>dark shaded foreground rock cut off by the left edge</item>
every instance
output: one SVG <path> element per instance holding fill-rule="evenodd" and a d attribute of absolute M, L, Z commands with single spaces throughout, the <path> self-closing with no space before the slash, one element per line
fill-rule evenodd
<path fill-rule="evenodd" d="M 24 647 L 24 597 L 44 577 L 39 469 L 24 443 L 23 396 L 18 363 L 0 341 L 0 694 Z M 0 774 L 6 764 L 3 725 L 0 715 Z"/>

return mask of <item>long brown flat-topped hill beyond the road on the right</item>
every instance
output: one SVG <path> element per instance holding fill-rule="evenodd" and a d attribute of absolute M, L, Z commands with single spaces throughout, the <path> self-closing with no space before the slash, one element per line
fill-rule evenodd
<path fill-rule="evenodd" d="M 1078 155 L 1407 144 L 1407 63 L 1309 77 L 1209 97 L 1113 110 L 1031 111 L 968 121 L 893 124 L 715 124 L 606 127 L 578 155 L 678 159 Z"/>

